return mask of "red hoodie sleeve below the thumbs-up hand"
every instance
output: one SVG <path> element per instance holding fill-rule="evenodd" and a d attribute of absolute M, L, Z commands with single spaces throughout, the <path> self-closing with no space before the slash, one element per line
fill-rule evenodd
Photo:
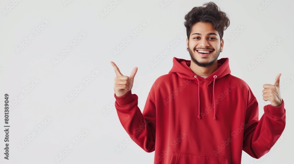
<path fill-rule="evenodd" d="M 264 114 L 258 120 L 258 102 L 254 97 L 247 104 L 243 151 L 253 158 L 260 158 L 280 138 L 286 124 L 284 100 L 280 106 L 265 105 Z"/>

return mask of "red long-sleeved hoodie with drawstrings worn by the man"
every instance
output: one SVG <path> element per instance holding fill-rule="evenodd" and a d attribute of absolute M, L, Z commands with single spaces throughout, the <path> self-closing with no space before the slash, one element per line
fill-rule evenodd
<path fill-rule="evenodd" d="M 143 113 L 136 94 L 114 94 L 123 128 L 143 150 L 155 151 L 155 164 L 240 164 L 242 150 L 260 158 L 279 139 L 284 100 L 265 105 L 258 120 L 248 84 L 230 74 L 228 58 L 217 62 L 218 69 L 203 78 L 189 68 L 191 60 L 173 57 L 171 71 L 153 83 Z"/>

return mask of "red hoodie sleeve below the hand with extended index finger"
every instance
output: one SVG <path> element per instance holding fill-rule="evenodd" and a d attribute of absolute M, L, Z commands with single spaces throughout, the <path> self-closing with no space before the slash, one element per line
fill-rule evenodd
<path fill-rule="evenodd" d="M 121 97 L 114 93 L 116 111 L 123 128 L 131 139 L 148 153 L 155 150 L 156 112 L 151 91 L 143 113 L 138 107 L 138 96 L 132 94 L 131 90 Z"/>

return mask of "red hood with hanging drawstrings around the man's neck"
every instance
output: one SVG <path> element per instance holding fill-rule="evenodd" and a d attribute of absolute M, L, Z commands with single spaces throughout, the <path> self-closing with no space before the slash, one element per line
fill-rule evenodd
<path fill-rule="evenodd" d="M 213 119 L 216 120 L 216 104 L 215 104 L 215 95 L 214 95 L 214 84 L 216 83 L 217 79 L 222 78 L 223 76 L 230 74 L 231 70 L 229 67 L 229 59 L 228 58 L 221 58 L 217 60 L 218 62 L 218 69 L 214 71 L 211 75 L 207 78 L 203 78 L 198 76 L 190 69 L 191 60 L 180 59 L 173 57 L 173 67 L 168 72 L 176 73 L 179 77 L 195 80 L 198 82 L 198 119 L 201 119 L 200 116 L 200 85 L 202 81 L 208 81 L 208 84 L 213 82 L 213 103 L 214 103 L 214 117 Z"/>

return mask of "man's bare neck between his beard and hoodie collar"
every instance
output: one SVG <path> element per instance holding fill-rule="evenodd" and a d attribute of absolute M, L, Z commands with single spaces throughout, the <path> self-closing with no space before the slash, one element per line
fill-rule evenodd
<path fill-rule="evenodd" d="M 191 61 L 190 69 L 198 76 L 209 76 L 218 69 L 218 62 L 214 62 L 211 66 L 201 67 Z"/>

